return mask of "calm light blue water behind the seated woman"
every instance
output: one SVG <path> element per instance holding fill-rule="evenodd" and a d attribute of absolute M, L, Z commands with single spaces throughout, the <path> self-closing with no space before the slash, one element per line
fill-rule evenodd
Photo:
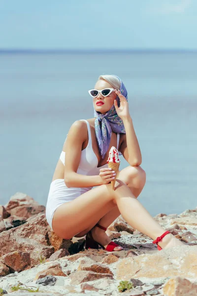
<path fill-rule="evenodd" d="M 1 54 L 0 204 L 46 205 L 70 125 L 93 117 L 87 90 L 117 74 L 128 93 L 152 215 L 197 206 L 197 54 Z M 128 164 L 122 158 L 121 168 Z"/>

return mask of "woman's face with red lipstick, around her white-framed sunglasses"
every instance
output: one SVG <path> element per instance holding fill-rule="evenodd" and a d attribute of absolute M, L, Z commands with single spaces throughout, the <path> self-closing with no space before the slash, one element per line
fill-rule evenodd
<path fill-rule="evenodd" d="M 95 89 L 101 90 L 104 88 L 113 88 L 113 86 L 111 86 L 111 84 L 109 84 L 105 80 L 98 80 L 95 84 Z M 114 100 L 116 99 L 116 97 L 117 95 L 115 93 L 115 89 L 107 97 L 103 97 L 102 94 L 99 92 L 99 95 L 96 98 L 93 98 L 94 109 L 97 112 L 105 114 L 114 105 Z M 102 102 L 103 104 L 98 104 L 99 102 Z"/>

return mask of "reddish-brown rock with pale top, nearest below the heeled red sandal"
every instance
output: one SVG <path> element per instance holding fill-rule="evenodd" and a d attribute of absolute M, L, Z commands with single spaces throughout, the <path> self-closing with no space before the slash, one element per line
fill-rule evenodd
<path fill-rule="evenodd" d="M 90 258 L 81 259 L 77 271 L 81 270 L 91 270 L 97 273 L 113 274 L 106 264 L 95 262 Z"/>

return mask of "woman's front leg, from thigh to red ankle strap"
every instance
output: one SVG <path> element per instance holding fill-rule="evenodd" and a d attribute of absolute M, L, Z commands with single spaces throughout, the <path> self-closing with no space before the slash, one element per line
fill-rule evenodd
<path fill-rule="evenodd" d="M 114 204 L 132 227 L 152 239 L 164 233 L 164 228 L 151 217 L 133 196 L 129 187 L 120 180 L 117 180 L 114 191 L 111 184 L 100 185 L 58 207 L 52 222 L 53 230 L 62 238 L 71 238 L 84 229 L 92 228 L 101 217 L 114 208 Z M 164 247 L 164 243 L 160 245 Z"/>

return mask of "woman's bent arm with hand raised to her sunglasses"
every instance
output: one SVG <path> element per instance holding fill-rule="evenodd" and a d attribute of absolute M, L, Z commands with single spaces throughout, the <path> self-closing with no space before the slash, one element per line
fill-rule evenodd
<path fill-rule="evenodd" d="M 142 156 L 129 113 L 129 104 L 120 91 L 116 91 L 116 94 L 120 98 L 120 107 L 118 108 L 116 100 L 114 101 L 114 106 L 118 116 L 123 120 L 126 131 L 126 135 L 120 146 L 120 152 L 131 166 L 139 166 L 142 162 Z"/>

